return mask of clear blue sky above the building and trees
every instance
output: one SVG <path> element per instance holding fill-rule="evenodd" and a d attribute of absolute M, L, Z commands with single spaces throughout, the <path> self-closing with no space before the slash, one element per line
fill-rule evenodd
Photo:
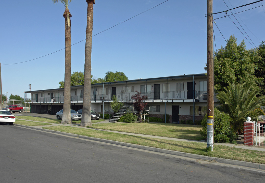
<path fill-rule="evenodd" d="M 164 1 L 166 0 L 96 0 L 93 35 Z M 254 1 L 256 0 L 214 0 L 213 12 Z M 265 1 L 261 1 L 235 11 L 264 4 Z M 103 78 L 108 71 L 121 71 L 129 79 L 138 79 L 205 73 L 206 6 L 206 0 L 169 0 L 93 36 L 91 74 L 93 77 Z M 64 10 L 63 4 L 54 4 L 51 0 L 1 2 L 0 62 L 3 94 L 8 92 L 8 97 L 12 93 L 24 98 L 23 92 L 29 91 L 29 84 L 31 90 L 59 87 L 59 82 L 64 80 L 65 51 L 58 51 L 65 46 Z M 69 11 L 72 14 L 71 35 L 74 44 L 84 40 L 86 36 L 86 1 L 72 0 Z M 235 11 L 232 10 L 233 13 Z M 214 19 L 224 15 L 225 13 L 214 15 Z M 235 18 L 230 17 L 244 35 L 250 37 L 251 40 L 248 40 L 252 45 L 228 17 L 215 20 L 226 40 L 235 35 L 237 43 L 244 39 L 248 49 L 265 41 L 265 6 L 235 15 L 247 34 Z M 226 42 L 215 25 L 214 34 L 217 49 L 225 46 Z M 53 53 L 55 51 L 58 52 Z M 42 57 L 47 54 L 50 55 Z M 32 61 L 25 62 L 28 60 Z M 84 60 L 85 41 L 82 41 L 72 46 L 71 71 L 84 72 Z"/>

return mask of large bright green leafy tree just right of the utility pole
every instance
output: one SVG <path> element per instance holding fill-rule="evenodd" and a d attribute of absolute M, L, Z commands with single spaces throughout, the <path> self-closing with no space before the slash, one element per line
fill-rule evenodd
<path fill-rule="evenodd" d="M 259 56 L 253 49 L 246 49 L 244 40 L 237 45 L 235 36 L 230 36 L 227 45 L 214 53 L 214 90 L 224 91 L 223 87 L 228 86 L 228 82 L 245 82 L 253 88 L 260 88 L 258 83 L 263 78 L 254 74 L 258 60 Z"/>

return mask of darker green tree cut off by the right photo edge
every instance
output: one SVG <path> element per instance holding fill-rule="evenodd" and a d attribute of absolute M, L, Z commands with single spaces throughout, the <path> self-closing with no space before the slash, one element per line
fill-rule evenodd
<path fill-rule="evenodd" d="M 256 77 L 264 77 L 265 76 L 265 42 L 261 41 L 261 44 L 257 48 L 257 54 L 259 55 L 259 60 L 256 60 L 255 64 L 257 68 L 255 69 Z M 265 82 L 264 79 L 262 82 L 258 83 L 261 88 L 261 93 L 265 94 Z"/>

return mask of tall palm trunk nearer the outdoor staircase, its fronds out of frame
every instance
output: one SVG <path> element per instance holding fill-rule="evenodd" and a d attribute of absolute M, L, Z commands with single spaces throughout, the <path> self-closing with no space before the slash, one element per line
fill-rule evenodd
<path fill-rule="evenodd" d="M 90 85 L 91 85 L 91 50 L 92 50 L 92 29 L 93 29 L 93 8 L 95 0 L 87 2 L 87 22 L 86 22 L 86 47 L 85 47 L 85 72 L 84 72 L 84 97 L 83 113 L 80 126 L 92 126 L 90 108 Z"/>

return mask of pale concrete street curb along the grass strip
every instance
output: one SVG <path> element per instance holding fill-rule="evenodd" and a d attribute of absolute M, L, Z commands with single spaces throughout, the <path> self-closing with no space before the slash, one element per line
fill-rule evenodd
<path fill-rule="evenodd" d="M 83 138 L 83 139 L 88 139 L 88 140 L 95 140 L 95 141 L 105 142 L 105 143 L 109 143 L 109 144 L 115 144 L 115 145 L 119 145 L 119 146 L 137 148 L 137 149 L 160 152 L 160 153 L 165 153 L 165 154 L 172 154 L 172 155 L 176 155 L 176 156 L 183 156 L 183 157 L 194 158 L 194 159 L 215 161 L 217 163 L 224 163 L 224 164 L 229 164 L 229 165 L 244 166 L 244 167 L 249 167 L 249 168 L 255 168 L 258 170 L 265 170 L 265 165 L 259 164 L 259 163 L 251 163 L 251 162 L 238 161 L 238 160 L 233 160 L 233 159 L 216 158 L 216 157 L 191 154 L 191 153 L 185 153 L 185 152 L 179 152 L 179 151 L 171 151 L 171 150 L 160 149 L 160 148 L 156 148 L 156 147 L 141 146 L 141 145 L 130 144 L 130 143 L 126 143 L 126 142 L 118 142 L 118 141 L 114 141 L 114 140 L 100 139 L 100 138 L 95 138 L 95 137 L 87 137 L 87 136 L 83 136 L 83 135 L 77 135 L 77 134 L 73 134 L 73 133 L 66 133 L 66 132 L 59 132 L 59 131 L 55 131 L 55 130 L 36 128 L 34 126 L 25 126 L 25 125 L 20 125 L 20 124 L 14 124 L 14 125 L 15 126 L 21 126 L 24 128 L 31 128 L 31 129 L 35 129 L 35 130 L 39 130 L 39 131 L 44 131 L 44 132 L 50 132 L 50 133 L 61 134 L 61 135 L 68 135 L 71 137 Z"/>

